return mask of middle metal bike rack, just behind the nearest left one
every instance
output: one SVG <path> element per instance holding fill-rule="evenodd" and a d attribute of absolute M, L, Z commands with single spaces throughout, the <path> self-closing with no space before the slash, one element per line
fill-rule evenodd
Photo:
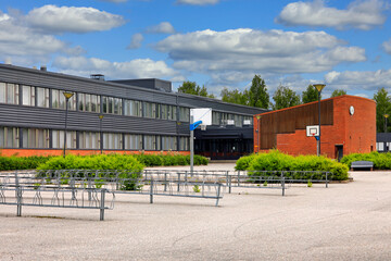
<path fill-rule="evenodd" d="M 155 172 L 153 175 L 134 171 L 59 170 L 39 171 L 41 179 L 67 181 L 87 188 L 105 188 L 115 194 L 149 195 L 150 203 L 154 196 L 173 196 L 215 199 L 218 206 L 223 198 L 222 183 L 218 179 L 197 179 L 188 175 L 169 175 Z"/>

